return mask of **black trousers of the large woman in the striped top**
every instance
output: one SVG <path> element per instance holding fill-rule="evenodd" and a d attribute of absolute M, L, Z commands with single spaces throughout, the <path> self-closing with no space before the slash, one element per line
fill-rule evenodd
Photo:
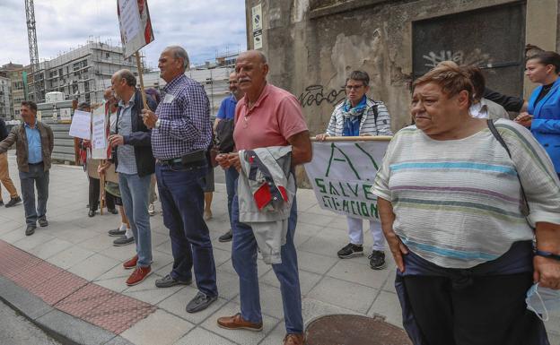
<path fill-rule="evenodd" d="M 468 284 L 458 284 L 447 277 L 404 277 L 407 298 L 427 345 L 542 345 L 530 341 L 538 338 L 531 333 L 542 327 L 525 304 L 532 273 L 470 279 Z"/>

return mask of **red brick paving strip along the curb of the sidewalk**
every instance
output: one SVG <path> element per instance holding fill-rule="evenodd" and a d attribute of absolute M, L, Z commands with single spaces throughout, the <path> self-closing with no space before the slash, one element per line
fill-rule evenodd
<path fill-rule="evenodd" d="M 119 334 L 156 307 L 90 283 L 0 240 L 0 275 L 48 305 Z"/>

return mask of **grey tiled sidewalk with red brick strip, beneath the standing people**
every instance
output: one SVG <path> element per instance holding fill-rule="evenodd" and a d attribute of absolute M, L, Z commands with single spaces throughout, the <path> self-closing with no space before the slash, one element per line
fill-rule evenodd
<path fill-rule="evenodd" d="M 20 191 L 13 153 L 9 162 L 11 177 Z M 95 217 L 87 217 L 87 185 L 87 177 L 81 168 L 54 166 L 50 172 L 49 225 L 48 228 L 38 228 L 31 237 L 24 235 L 22 205 L 0 209 L 0 267 L 5 266 L 4 270 L 0 269 L 0 279 L 3 279 L 0 285 L 8 286 L 13 281 L 30 291 L 31 295 L 42 298 L 41 303 L 46 303 L 45 313 L 48 312 L 48 315 L 85 320 L 99 327 L 95 329 L 100 332 L 109 332 L 103 333 L 97 342 L 85 341 L 88 343 L 282 343 L 285 331 L 279 284 L 271 267 L 261 261 L 258 272 L 264 313 L 263 332 L 227 331 L 215 322 L 218 317 L 237 313 L 240 308 L 239 282 L 232 267 L 231 242 L 223 244 L 217 240 L 230 228 L 223 184 L 215 186 L 214 218 L 208 221 L 220 298 L 197 314 L 185 311 L 188 300 L 197 293 L 194 287 L 157 289 L 154 286 L 154 280 L 170 272 L 172 264 L 168 230 L 159 214 L 160 203 L 156 202 L 158 213 L 151 218 L 153 274 L 143 283 L 129 288 L 125 280 L 130 271 L 124 270 L 121 263 L 135 254 L 134 245 L 112 246 L 115 237 L 109 237 L 107 231 L 118 227 L 118 215 L 101 216 L 98 211 Z M 4 202 L 9 200 L 5 190 L 3 196 Z M 335 313 L 381 315 L 387 322 L 401 327 L 400 307 L 393 288 L 395 265 L 390 255 L 388 268 L 383 271 L 372 271 L 366 256 L 338 259 L 337 250 L 348 240 L 345 217 L 320 210 L 310 190 L 298 191 L 298 206 L 295 244 L 301 270 L 304 321 L 308 323 L 319 315 Z M 369 248 L 371 237 L 368 235 L 365 238 L 365 246 Z M 19 255 L 31 271 L 18 272 L 17 264 L 9 264 L 8 256 L 11 255 Z M 12 272 L 6 268 L 8 266 Z M 66 277 L 67 283 L 53 285 L 57 282 L 52 279 L 53 274 Z M 43 291 L 42 295 L 33 293 L 38 290 Z M 0 298 L 5 298 L 4 293 L 5 289 L 0 289 Z M 112 302 L 107 302 L 108 299 Z M 114 306 L 115 303 L 121 303 L 123 307 L 120 310 L 114 307 L 105 310 L 102 307 Z M 132 313 L 134 315 L 129 317 L 131 310 L 136 314 Z M 39 321 L 46 318 L 44 315 L 28 316 Z M 547 327 L 551 344 L 560 345 L 560 315 L 551 319 Z M 115 338 L 116 334 L 119 337 Z"/>

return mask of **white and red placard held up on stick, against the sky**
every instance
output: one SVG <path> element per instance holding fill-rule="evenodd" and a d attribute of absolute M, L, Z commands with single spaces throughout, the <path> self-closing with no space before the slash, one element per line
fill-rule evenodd
<path fill-rule="evenodd" d="M 153 41 L 152 21 L 147 0 L 118 0 L 120 39 L 125 47 L 125 57 Z"/>

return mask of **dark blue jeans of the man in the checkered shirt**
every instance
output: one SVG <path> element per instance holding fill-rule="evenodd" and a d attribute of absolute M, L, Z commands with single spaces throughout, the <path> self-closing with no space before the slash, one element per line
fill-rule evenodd
<path fill-rule="evenodd" d="M 173 269 L 176 280 L 192 279 L 194 267 L 197 288 L 207 296 L 217 296 L 212 242 L 203 219 L 206 164 L 185 168 L 180 163 L 155 166 L 163 223 L 170 230 Z"/>

